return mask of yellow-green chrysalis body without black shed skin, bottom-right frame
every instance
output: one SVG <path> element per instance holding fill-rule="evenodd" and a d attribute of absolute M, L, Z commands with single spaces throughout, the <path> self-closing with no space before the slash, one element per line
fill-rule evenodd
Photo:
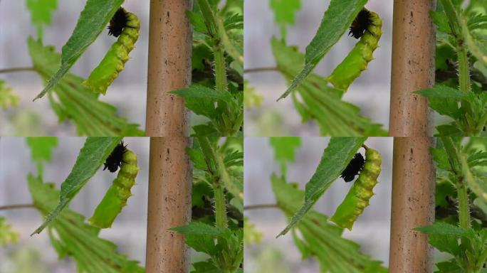
<path fill-rule="evenodd" d="M 365 148 L 365 164 L 357 181 L 353 184 L 347 196 L 338 206 L 330 220 L 340 226 L 352 230 L 353 223 L 369 205 L 369 200 L 374 195 L 373 189 L 377 185 L 382 164 L 382 158 L 378 151 L 369 147 Z"/>

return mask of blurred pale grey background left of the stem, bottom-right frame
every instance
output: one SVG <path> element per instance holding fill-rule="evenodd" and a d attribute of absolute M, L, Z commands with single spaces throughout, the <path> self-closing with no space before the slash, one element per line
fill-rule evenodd
<path fill-rule="evenodd" d="M 301 147 L 296 154 L 294 164 L 288 165 L 288 181 L 298 182 L 303 189 L 318 166 L 323 150 L 328 146 L 329 138 L 306 137 L 301 139 Z M 382 172 L 379 183 L 374 188 L 375 196 L 370 206 L 358 218 L 353 230 L 344 231 L 344 236 L 361 245 L 362 252 L 374 259 L 388 264 L 389 259 L 389 224 L 390 193 L 392 181 L 392 138 L 369 138 L 365 144 L 377 149 L 382 154 Z M 363 150 L 363 149 L 361 149 Z M 363 154 L 363 151 L 362 151 Z M 274 160 L 274 151 L 266 137 L 246 137 L 244 141 L 244 203 L 245 205 L 275 204 L 271 188 L 271 173 L 280 173 L 281 168 Z M 351 183 L 344 183 L 338 178 L 318 200 L 313 209 L 332 215 L 341 203 Z M 275 208 L 246 210 L 245 215 L 251 223 L 263 232 L 261 244 L 246 246 L 246 272 L 266 273 L 266 268 L 276 268 L 281 273 L 319 272 L 318 262 L 311 258 L 301 260 L 292 236 L 276 239 L 288 221 L 280 210 Z"/>

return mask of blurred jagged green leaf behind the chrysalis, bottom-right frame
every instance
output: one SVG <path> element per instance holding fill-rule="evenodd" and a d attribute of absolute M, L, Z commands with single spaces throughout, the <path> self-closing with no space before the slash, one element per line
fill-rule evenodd
<path fill-rule="evenodd" d="M 283 178 L 271 177 L 277 204 L 290 218 L 298 212 L 305 193 Z M 382 262 L 360 252 L 360 245 L 342 237 L 343 229 L 328 223 L 328 217 L 310 210 L 293 226 L 294 240 L 303 257 L 314 256 L 321 272 L 385 273 Z"/>

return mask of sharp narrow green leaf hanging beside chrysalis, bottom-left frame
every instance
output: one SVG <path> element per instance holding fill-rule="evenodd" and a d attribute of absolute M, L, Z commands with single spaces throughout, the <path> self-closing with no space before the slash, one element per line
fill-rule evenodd
<path fill-rule="evenodd" d="M 61 184 L 61 197 L 54 210 L 49 213 L 44 223 L 32 234 L 40 233 L 61 213 L 63 208 L 78 194 L 86 182 L 95 175 L 122 137 L 88 137 L 78 154 L 75 165 L 68 177 Z"/>

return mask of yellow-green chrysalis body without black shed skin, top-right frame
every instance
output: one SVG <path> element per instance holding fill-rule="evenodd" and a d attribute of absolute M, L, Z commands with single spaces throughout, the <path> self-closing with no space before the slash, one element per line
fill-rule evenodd
<path fill-rule="evenodd" d="M 374 59 L 372 53 L 379 46 L 379 39 L 382 36 L 382 20 L 373 11 L 369 11 L 369 14 L 370 23 L 360 41 L 326 78 L 337 89 L 346 91 L 360 73 L 367 69 L 367 64 Z"/>

